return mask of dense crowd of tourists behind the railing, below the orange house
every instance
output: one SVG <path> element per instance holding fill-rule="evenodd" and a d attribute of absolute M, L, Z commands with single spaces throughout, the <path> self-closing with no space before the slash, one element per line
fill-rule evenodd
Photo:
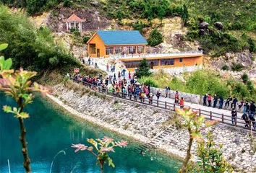
<path fill-rule="evenodd" d="M 114 66 L 111 65 L 112 68 Z M 108 92 L 118 97 L 126 97 L 129 99 L 134 99 L 135 101 L 148 102 L 148 104 L 153 104 L 153 97 L 155 100 L 159 100 L 161 92 L 157 91 L 155 94 L 152 93 L 150 86 L 145 84 L 140 84 L 137 82 L 135 75 L 128 73 L 128 80 L 125 76 L 125 69 L 119 71 L 118 75 L 109 75 L 106 79 L 103 79 L 102 74 L 95 76 L 83 76 L 79 73 L 67 74 L 67 76 L 72 77 L 74 81 L 82 82 L 84 85 L 88 85 L 91 88 L 100 89 L 101 92 Z M 166 89 L 166 97 L 168 95 L 170 88 Z M 179 105 L 181 108 L 184 107 L 184 99 L 181 97 L 179 99 L 179 92 L 176 91 L 175 94 L 175 104 Z"/>

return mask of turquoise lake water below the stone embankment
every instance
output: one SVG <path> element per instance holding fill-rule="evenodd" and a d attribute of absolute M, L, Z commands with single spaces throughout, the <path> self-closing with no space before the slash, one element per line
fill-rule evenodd
<path fill-rule="evenodd" d="M 0 94 L 0 172 L 8 171 L 9 159 L 11 172 L 25 172 L 22 167 L 21 144 L 19 141 L 20 126 L 18 120 L 11 114 L 3 112 L 3 105 L 14 106 L 14 99 Z M 127 148 L 116 148 L 111 153 L 115 168 L 105 165 L 104 172 L 177 172 L 181 162 L 157 151 L 146 151 L 140 154 L 141 143 L 131 141 L 124 136 L 111 133 L 106 129 L 89 124 L 80 118 L 74 118 L 64 112 L 59 106 L 40 97 L 26 109 L 30 117 L 25 120 L 27 129 L 28 151 L 31 159 L 32 172 L 50 172 L 51 161 L 61 150 L 64 150 L 54 160 L 52 173 L 58 172 L 100 172 L 93 155 L 88 151 L 74 153 L 72 143 L 85 143 L 86 138 L 102 138 L 109 136 L 117 140 L 129 141 Z"/>

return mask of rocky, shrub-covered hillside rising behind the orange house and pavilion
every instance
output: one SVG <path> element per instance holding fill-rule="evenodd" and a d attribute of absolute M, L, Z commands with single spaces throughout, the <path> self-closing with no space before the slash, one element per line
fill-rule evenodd
<path fill-rule="evenodd" d="M 65 39 L 69 50 L 77 56 L 86 56 L 83 37 L 90 37 L 95 30 L 140 30 L 148 38 L 151 30 L 158 29 L 163 43 L 148 47 L 149 51 L 202 48 L 205 66 L 210 68 L 255 68 L 255 0 L 30 0 L 23 4 L 1 1 L 23 7 L 33 17 L 48 12 L 46 25 L 58 33 L 57 37 L 65 31 L 62 19 L 72 11 L 86 19 L 81 37 L 69 35 Z"/>

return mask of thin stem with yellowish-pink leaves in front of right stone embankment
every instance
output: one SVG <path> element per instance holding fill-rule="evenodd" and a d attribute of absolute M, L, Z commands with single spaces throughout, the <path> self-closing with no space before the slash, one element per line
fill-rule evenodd
<path fill-rule="evenodd" d="M 185 157 L 182 169 L 179 172 L 187 172 L 187 164 L 191 158 L 191 147 L 193 139 L 197 141 L 203 141 L 202 134 L 200 133 L 202 129 L 208 128 L 211 125 L 218 123 L 217 120 L 206 121 L 205 117 L 202 115 L 197 116 L 198 112 L 192 111 L 192 109 L 184 108 L 183 110 L 176 108 L 176 113 L 184 117 L 185 123 L 184 127 L 189 131 L 189 146 L 187 148 L 187 156 Z M 204 123 L 205 122 L 205 123 Z M 203 124 L 204 123 L 204 124 Z"/>

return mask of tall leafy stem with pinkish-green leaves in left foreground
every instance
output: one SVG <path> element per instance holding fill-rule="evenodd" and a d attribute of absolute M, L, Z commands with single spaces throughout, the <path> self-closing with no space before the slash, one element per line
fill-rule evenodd
<path fill-rule="evenodd" d="M 7 48 L 7 44 L 1 44 L 0 50 Z M 14 71 L 11 69 L 12 59 L 4 60 L 4 57 L 0 57 L 0 91 L 8 96 L 11 96 L 17 102 L 18 107 L 10 107 L 5 105 L 3 107 L 4 112 L 14 114 L 14 117 L 19 119 L 20 123 L 20 142 L 22 143 L 22 154 L 24 158 L 23 167 L 26 172 L 31 172 L 30 158 L 28 157 L 26 130 L 24 125 L 24 119 L 29 117 L 27 112 L 24 112 L 24 108 L 27 104 L 31 104 L 34 99 L 34 95 L 31 92 L 41 92 L 46 94 L 48 88 L 39 85 L 38 83 L 32 83 L 30 81 L 33 76 L 36 75 L 35 71 L 24 71 L 20 68 L 20 71 Z"/>

